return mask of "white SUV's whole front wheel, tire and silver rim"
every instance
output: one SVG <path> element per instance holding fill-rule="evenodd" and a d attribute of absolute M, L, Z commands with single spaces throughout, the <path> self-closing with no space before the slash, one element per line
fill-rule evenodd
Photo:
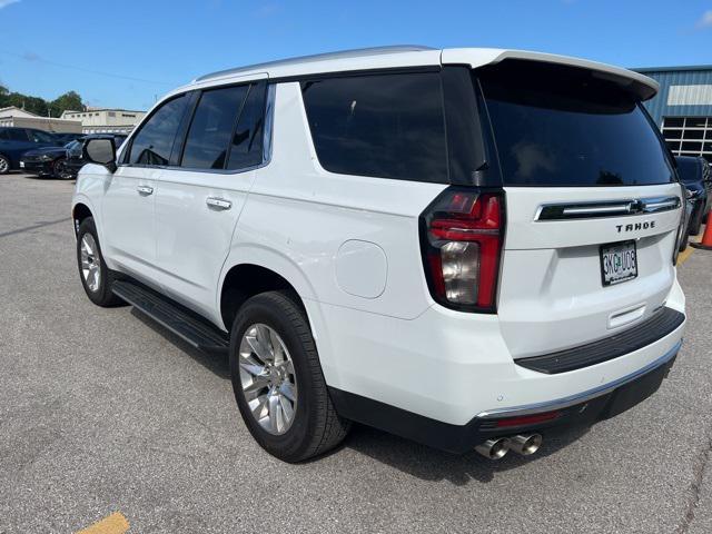
<path fill-rule="evenodd" d="M 97 306 L 109 308 L 123 301 L 111 293 L 115 275 L 109 270 L 101 255 L 97 227 L 92 217 L 79 225 L 77 233 L 77 265 L 85 293 Z"/>

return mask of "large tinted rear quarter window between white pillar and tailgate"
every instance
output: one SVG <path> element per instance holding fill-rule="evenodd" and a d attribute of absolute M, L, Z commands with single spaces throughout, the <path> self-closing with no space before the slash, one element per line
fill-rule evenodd
<path fill-rule="evenodd" d="M 447 182 L 439 73 L 333 78 L 301 90 L 325 169 Z"/>

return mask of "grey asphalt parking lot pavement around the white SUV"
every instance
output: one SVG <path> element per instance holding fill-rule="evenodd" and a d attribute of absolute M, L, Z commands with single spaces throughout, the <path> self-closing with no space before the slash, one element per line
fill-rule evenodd
<path fill-rule="evenodd" d="M 531 459 L 356 427 L 288 465 L 247 432 L 226 360 L 87 299 L 72 188 L 0 176 L 0 534 L 116 534 L 118 514 L 129 533 L 712 532 L 712 253 L 680 266 L 670 377 L 621 416 Z"/>

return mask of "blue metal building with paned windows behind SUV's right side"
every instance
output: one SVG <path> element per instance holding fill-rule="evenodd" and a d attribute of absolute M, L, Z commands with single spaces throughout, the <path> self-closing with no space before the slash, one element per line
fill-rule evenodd
<path fill-rule="evenodd" d="M 712 162 L 712 65 L 633 69 L 660 83 L 645 102 L 676 156 L 704 156 Z"/>

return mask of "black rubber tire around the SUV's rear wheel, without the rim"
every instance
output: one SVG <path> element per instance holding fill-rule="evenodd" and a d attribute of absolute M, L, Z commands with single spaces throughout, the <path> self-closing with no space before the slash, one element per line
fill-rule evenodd
<path fill-rule="evenodd" d="M 296 409 L 291 426 L 280 435 L 260 426 L 243 390 L 238 353 L 245 332 L 255 324 L 267 325 L 278 334 L 294 364 L 298 387 Z M 238 310 L 230 335 L 230 374 L 247 428 L 273 456 L 289 463 L 301 462 L 334 448 L 346 437 L 350 422 L 339 417 L 332 404 L 309 324 L 290 294 L 263 293 Z"/>

